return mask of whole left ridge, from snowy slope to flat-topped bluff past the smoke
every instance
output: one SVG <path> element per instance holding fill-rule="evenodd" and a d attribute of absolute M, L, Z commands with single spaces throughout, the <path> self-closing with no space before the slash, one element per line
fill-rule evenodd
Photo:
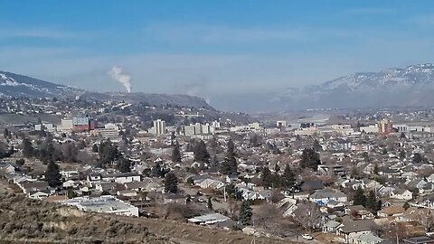
<path fill-rule="evenodd" d="M 28 76 L 0 71 L 0 97 L 60 98 L 81 96 L 87 99 L 145 102 L 149 105 L 172 104 L 192 108 L 213 109 L 204 99 L 188 95 L 135 93 L 98 93 L 54 84 Z"/>

